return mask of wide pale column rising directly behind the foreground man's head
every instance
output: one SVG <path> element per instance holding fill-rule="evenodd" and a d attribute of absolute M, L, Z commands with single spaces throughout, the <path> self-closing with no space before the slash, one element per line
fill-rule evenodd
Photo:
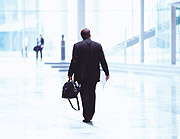
<path fill-rule="evenodd" d="M 80 36 L 80 31 L 85 27 L 85 0 L 77 1 L 77 33 L 78 33 L 78 41 L 82 40 Z"/>

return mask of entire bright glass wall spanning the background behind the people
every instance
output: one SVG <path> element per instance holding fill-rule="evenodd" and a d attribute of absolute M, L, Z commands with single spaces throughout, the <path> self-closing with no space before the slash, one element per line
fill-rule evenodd
<path fill-rule="evenodd" d="M 170 64 L 170 3 L 174 0 L 144 0 L 145 63 Z M 85 24 L 92 40 L 102 44 L 111 62 L 140 63 L 140 0 L 86 0 Z M 179 10 L 177 11 L 179 16 Z M 177 25 L 179 44 L 179 24 Z M 61 35 L 65 35 L 66 58 L 77 41 L 77 0 L 0 0 L 0 51 L 28 50 L 42 34 L 45 51 L 60 55 Z M 177 45 L 179 46 L 179 45 Z M 179 47 L 177 59 L 179 60 Z"/>

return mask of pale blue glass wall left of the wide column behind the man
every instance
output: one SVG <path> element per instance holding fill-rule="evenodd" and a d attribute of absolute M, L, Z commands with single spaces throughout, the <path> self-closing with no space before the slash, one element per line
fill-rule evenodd
<path fill-rule="evenodd" d="M 60 55 L 62 35 L 67 46 L 77 38 L 76 3 L 75 0 L 0 0 L 0 51 L 21 51 L 25 37 L 28 51 L 33 51 L 37 37 L 42 34 L 44 51 Z"/>

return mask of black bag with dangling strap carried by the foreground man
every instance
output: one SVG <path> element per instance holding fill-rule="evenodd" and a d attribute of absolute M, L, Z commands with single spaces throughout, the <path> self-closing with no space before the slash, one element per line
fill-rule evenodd
<path fill-rule="evenodd" d="M 74 110 L 80 110 L 79 100 L 78 100 L 78 93 L 79 93 L 80 89 L 81 89 L 81 85 L 76 84 L 73 80 L 69 80 L 68 82 L 66 82 L 62 88 L 62 98 L 68 99 L 71 107 Z M 72 99 L 72 98 L 76 98 L 78 109 L 75 109 L 74 106 L 72 105 L 72 103 L 70 101 L 70 99 Z"/>

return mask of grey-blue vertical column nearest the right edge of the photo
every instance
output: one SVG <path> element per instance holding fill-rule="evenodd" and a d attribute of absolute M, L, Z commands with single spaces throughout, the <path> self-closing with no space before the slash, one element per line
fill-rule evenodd
<path fill-rule="evenodd" d="M 171 64 L 176 64 L 176 7 L 171 5 Z"/>

